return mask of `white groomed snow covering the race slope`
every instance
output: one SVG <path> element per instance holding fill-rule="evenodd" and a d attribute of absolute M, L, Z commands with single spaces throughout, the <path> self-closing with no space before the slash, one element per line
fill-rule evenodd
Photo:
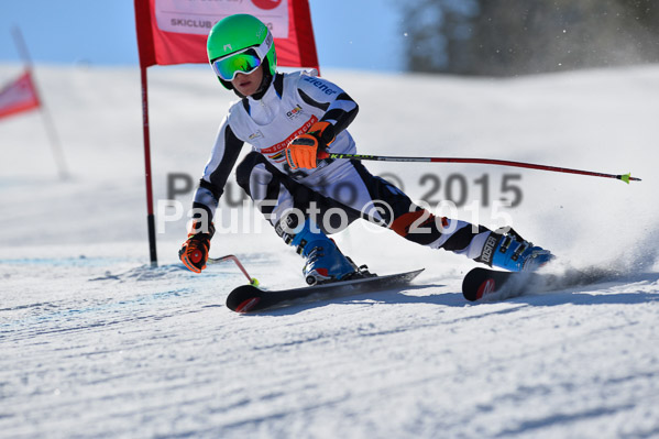
<path fill-rule="evenodd" d="M 0 66 L 2 83 L 18 66 Z M 341 249 L 377 273 L 425 266 L 408 288 L 257 316 L 224 307 L 245 282 L 201 275 L 164 222 L 150 268 L 136 69 L 40 66 L 73 177 L 61 182 L 39 112 L 0 121 L 2 438 L 659 437 L 659 66 L 515 79 L 327 72 L 360 103 L 362 153 L 542 163 L 641 183 L 482 165 L 371 163 L 415 199 L 448 176 L 519 174 L 523 200 L 454 216 L 515 229 L 563 264 L 623 276 L 469 304 L 475 263 L 355 223 Z M 233 99 L 206 69 L 150 70 L 154 190 L 200 175 Z M 246 151 L 245 151 L 246 152 Z M 239 199 L 233 183 L 232 196 Z M 188 209 L 191 194 L 176 200 Z M 237 254 L 268 288 L 301 285 L 301 260 L 253 208 L 226 209 L 211 254 Z M 227 220 L 240 227 L 230 232 Z M 502 217 L 502 215 L 504 217 Z M 560 270 L 560 268 L 554 268 Z"/>

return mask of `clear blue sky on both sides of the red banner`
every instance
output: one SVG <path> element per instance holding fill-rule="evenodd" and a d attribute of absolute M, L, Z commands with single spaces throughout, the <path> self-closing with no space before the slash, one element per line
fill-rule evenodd
<path fill-rule="evenodd" d="M 394 0 L 309 0 L 321 67 L 397 72 L 405 29 Z M 133 0 L 11 0 L 0 6 L 0 63 L 136 65 Z"/>

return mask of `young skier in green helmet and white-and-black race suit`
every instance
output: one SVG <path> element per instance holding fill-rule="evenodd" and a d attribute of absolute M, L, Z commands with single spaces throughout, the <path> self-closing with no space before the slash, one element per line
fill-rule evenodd
<path fill-rule="evenodd" d="M 218 79 L 241 100 L 220 125 L 195 194 L 193 227 L 179 251 L 193 272 L 206 267 L 215 233 L 212 218 L 244 143 L 251 144 L 252 152 L 238 165 L 238 184 L 284 241 L 306 259 L 303 273 L 310 284 L 361 274 L 326 234 L 341 217 L 326 213 L 337 208 L 348 219 L 344 222 L 366 219 L 418 244 L 490 266 L 535 270 L 552 257 L 513 231 L 495 232 L 435 217 L 358 161 L 322 158 L 327 152 L 356 152 L 347 128 L 358 105 L 340 87 L 314 74 L 277 73 L 273 36 L 259 19 L 224 18 L 210 31 L 207 48 Z M 373 204 L 387 208 L 367 209 Z"/>

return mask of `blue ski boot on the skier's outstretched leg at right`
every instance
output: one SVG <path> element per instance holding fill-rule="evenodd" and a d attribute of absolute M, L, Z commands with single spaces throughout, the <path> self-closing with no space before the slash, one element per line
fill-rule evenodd
<path fill-rule="evenodd" d="M 492 232 L 475 261 L 510 272 L 532 272 L 553 259 L 551 252 L 525 241 L 509 229 L 506 234 Z"/>

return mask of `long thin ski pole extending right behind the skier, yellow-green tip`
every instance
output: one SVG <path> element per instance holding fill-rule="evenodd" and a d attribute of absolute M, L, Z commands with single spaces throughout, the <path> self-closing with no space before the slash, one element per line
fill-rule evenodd
<path fill-rule="evenodd" d="M 336 153 L 327 153 L 327 152 L 319 153 L 318 158 L 352 158 L 352 160 L 360 160 L 360 161 L 369 160 L 369 161 L 380 161 L 380 162 L 475 163 L 475 164 L 483 164 L 483 165 L 526 167 L 529 169 L 551 171 L 554 173 L 567 173 L 567 174 L 590 175 L 593 177 L 615 178 L 615 179 L 623 180 L 626 184 L 629 184 L 629 182 L 640 182 L 641 180 L 640 178 L 633 177 L 631 173 L 614 175 L 614 174 L 596 173 L 596 172 L 592 172 L 592 171 L 570 169 L 568 167 L 536 165 L 532 163 L 510 162 L 510 161 L 505 161 L 505 160 L 493 160 L 493 158 L 400 157 L 400 156 L 387 156 L 387 155 L 336 154 Z"/>

